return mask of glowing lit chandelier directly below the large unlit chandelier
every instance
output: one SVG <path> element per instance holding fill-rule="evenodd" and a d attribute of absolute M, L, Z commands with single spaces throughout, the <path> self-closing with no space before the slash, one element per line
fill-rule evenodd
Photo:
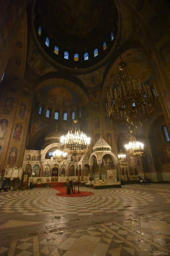
<path fill-rule="evenodd" d="M 144 151 L 143 143 L 138 142 L 133 134 L 131 134 L 129 144 L 124 145 L 124 147 L 128 155 L 136 156 L 139 154 L 143 154 Z"/>

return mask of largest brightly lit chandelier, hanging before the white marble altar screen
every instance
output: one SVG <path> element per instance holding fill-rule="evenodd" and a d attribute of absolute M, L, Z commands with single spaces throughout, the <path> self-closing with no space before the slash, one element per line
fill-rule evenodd
<path fill-rule="evenodd" d="M 73 120 L 72 130 L 63 135 L 60 145 L 63 151 L 67 151 L 72 155 L 83 154 L 89 151 L 90 138 L 78 129 L 78 120 Z"/>

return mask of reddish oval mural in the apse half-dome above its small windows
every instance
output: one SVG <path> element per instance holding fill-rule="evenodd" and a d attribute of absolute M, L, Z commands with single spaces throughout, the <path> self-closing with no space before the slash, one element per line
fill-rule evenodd
<path fill-rule="evenodd" d="M 64 87 L 64 99 L 63 99 L 63 87 L 51 85 L 44 87 L 41 91 L 41 95 L 44 101 L 48 101 L 51 105 L 72 106 L 80 101 L 78 94 L 75 94 L 70 88 Z"/>

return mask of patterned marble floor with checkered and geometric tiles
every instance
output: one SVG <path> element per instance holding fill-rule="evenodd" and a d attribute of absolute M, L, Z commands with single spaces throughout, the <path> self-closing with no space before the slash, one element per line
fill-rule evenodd
<path fill-rule="evenodd" d="M 0 192 L 0 255 L 170 255 L 170 184 Z"/>

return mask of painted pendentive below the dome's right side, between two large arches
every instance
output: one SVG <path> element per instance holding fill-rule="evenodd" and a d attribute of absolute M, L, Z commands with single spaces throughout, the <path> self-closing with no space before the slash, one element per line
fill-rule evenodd
<path fill-rule="evenodd" d="M 94 87 L 101 87 L 105 69 L 106 65 L 89 74 L 78 75 L 78 78 L 84 83 L 86 87 L 88 87 L 89 90 Z"/>

